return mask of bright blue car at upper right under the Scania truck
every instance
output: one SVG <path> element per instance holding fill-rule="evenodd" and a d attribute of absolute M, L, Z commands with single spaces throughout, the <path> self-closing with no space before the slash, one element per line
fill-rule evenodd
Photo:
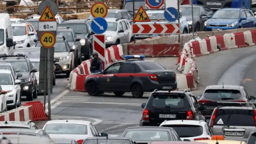
<path fill-rule="evenodd" d="M 256 26 L 254 13 L 248 8 L 222 8 L 204 22 L 204 31 L 252 28 Z"/>

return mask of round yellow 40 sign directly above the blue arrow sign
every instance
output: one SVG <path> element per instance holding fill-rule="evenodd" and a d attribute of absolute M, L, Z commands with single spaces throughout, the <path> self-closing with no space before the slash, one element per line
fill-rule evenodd
<path fill-rule="evenodd" d="M 106 15 L 108 14 L 108 8 L 107 8 L 106 4 L 104 4 L 102 2 L 96 2 L 91 7 L 91 14 L 94 18 L 96 18 L 96 17 L 105 18 Z"/>

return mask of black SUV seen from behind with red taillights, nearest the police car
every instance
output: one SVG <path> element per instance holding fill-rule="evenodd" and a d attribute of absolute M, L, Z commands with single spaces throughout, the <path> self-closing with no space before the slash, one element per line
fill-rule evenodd
<path fill-rule="evenodd" d="M 164 120 L 205 120 L 196 97 L 189 91 L 154 90 L 148 98 L 140 118 L 140 126 L 159 126 Z"/>

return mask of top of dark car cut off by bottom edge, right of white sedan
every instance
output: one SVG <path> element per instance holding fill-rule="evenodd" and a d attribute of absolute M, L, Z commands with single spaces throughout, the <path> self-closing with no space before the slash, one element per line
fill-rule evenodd
<path fill-rule="evenodd" d="M 115 140 L 100 140 L 100 139 L 95 139 L 95 140 L 85 140 L 83 142 L 83 144 L 130 144 L 130 141 L 129 140 L 118 140 L 118 139 L 115 139 Z"/>

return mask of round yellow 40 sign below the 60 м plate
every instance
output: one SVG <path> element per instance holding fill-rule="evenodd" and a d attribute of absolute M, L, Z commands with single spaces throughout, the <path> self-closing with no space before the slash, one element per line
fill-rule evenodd
<path fill-rule="evenodd" d="M 44 48 L 51 48 L 56 42 L 56 37 L 52 32 L 44 32 L 40 36 L 40 43 Z"/>

